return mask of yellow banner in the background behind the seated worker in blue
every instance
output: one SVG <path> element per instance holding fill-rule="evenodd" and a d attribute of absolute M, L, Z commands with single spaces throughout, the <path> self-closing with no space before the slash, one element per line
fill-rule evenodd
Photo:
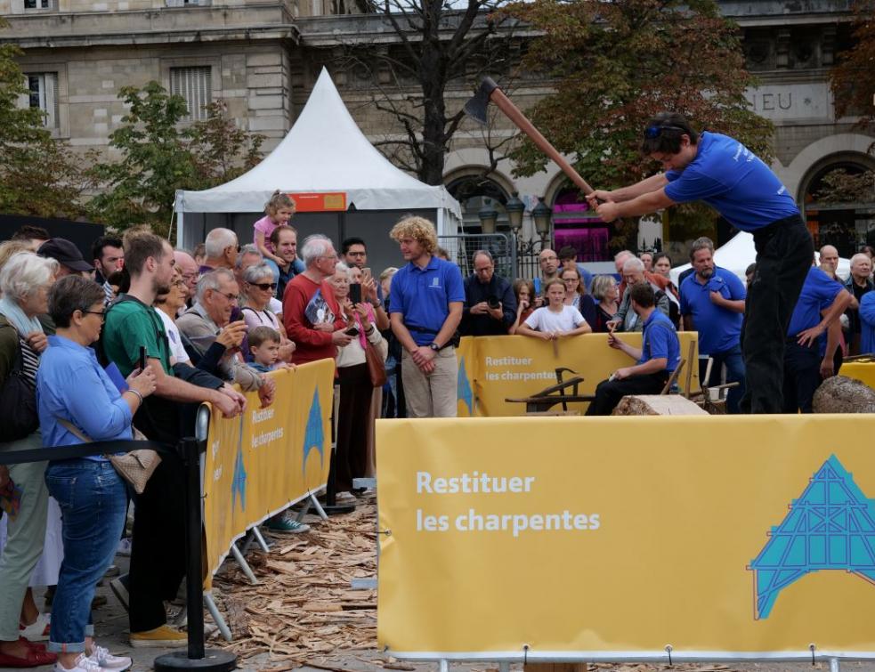
<path fill-rule="evenodd" d="M 618 334 L 633 347 L 641 347 L 641 334 Z M 681 359 L 686 360 L 677 383 L 686 388 L 692 363 L 690 389 L 699 388 L 699 343 L 694 331 L 680 332 Z M 690 346 L 693 345 L 693 357 Z M 555 369 L 571 368 L 564 380 L 583 376 L 579 394 L 592 394 L 595 385 L 621 367 L 635 364 L 628 355 L 608 346 L 607 334 L 571 336 L 547 342 L 531 336 L 467 336 L 456 351 L 458 360 L 458 417 L 522 416 L 525 404 L 506 399 L 521 399 L 556 384 Z M 570 394 L 571 389 L 566 391 Z M 555 408 L 561 408 L 556 406 Z M 583 413 L 586 403 L 569 404 Z"/>

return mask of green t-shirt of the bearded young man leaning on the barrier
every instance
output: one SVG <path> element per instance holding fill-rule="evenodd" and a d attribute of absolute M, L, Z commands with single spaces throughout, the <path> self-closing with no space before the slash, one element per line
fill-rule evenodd
<path fill-rule="evenodd" d="M 115 362 L 122 376 L 129 376 L 137 367 L 141 345 L 146 348 L 148 358 L 160 360 L 164 372 L 174 375 L 164 322 L 154 308 L 133 296 L 125 295 L 124 301 L 109 308 L 102 341 L 104 354 Z"/>

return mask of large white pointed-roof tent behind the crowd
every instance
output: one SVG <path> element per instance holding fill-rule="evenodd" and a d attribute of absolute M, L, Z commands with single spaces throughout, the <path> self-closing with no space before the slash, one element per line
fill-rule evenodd
<path fill-rule="evenodd" d="M 278 189 L 293 197 L 344 193 L 346 206 L 356 212 L 432 210 L 439 233 L 455 232 L 455 220 L 461 219 L 458 201 L 444 187 L 419 182 L 377 151 L 352 120 L 326 69 L 295 125 L 257 166 L 213 189 L 176 192 L 177 243 L 191 244 L 184 235 L 187 214 L 260 213 Z"/>

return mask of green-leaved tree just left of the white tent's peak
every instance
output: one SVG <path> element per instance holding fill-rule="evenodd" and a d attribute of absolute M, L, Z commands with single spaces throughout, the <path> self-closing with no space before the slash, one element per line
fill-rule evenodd
<path fill-rule="evenodd" d="M 188 127 L 180 122 L 189 109 L 182 96 L 158 82 L 126 86 L 118 93 L 129 111 L 125 124 L 109 135 L 121 153 L 117 163 L 91 168 L 103 191 L 89 203 L 93 215 L 117 229 L 147 223 L 166 235 L 176 190 L 208 189 L 258 162 L 260 135 L 249 136 L 226 116 L 223 101 L 207 107 L 207 119 Z"/>

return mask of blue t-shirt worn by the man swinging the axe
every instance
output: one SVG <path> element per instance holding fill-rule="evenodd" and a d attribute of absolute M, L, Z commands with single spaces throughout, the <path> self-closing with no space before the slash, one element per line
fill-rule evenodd
<path fill-rule="evenodd" d="M 701 134 L 693 161 L 665 176 L 668 198 L 676 203 L 703 200 L 741 231 L 757 231 L 799 214 L 796 201 L 778 176 L 728 135 Z"/>

